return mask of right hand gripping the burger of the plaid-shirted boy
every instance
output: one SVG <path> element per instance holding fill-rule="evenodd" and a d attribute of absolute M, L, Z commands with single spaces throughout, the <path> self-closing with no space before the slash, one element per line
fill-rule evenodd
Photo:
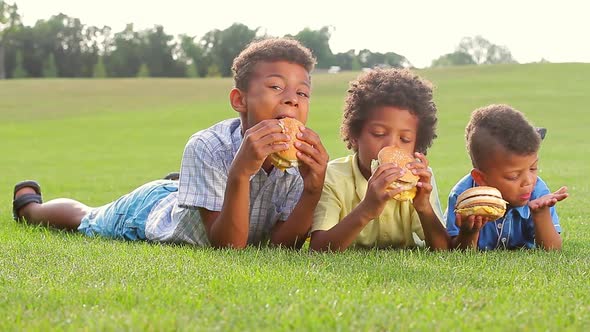
<path fill-rule="evenodd" d="M 307 127 L 300 129 L 297 138 L 307 143 L 295 142 L 295 148 L 299 150 L 297 158 L 302 162 L 299 173 L 303 178 L 303 188 L 308 193 L 321 194 L 330 157 L 318 134 Z"/>

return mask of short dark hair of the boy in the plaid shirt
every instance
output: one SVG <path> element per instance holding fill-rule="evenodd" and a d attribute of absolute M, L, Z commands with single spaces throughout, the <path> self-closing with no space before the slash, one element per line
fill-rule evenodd
<path fill-rule="evenodd" d="M 232 72 L 235 87 L 248 90 L 254 67 L 260 62 L 287 61 L 301 65 L 311 73 L 316 59 L 311 51 L 290 38 L 268 38 L 253 41 L 234 59 Z"/>

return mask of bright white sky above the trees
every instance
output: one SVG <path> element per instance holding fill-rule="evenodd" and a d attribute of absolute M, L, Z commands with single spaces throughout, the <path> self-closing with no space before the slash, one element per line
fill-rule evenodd
<path fill-rule="evenodd" d="M 273 36 L 332 26 L 333 53 L 396 52 L 424 67 L 453 52 L 462 37 L 506 46 L 521 63 L 590 62 L 587 0 L 5 0 L 27 25 L 63 12 L 87 25 L 163 25 L 168 34 L 202 37 L 232 23 Z M 587 5 L 585 3 L 588 3 Z"/>

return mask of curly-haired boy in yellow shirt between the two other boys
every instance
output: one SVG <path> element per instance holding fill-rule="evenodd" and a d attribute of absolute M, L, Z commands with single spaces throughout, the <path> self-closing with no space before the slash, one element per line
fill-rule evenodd
<path fill-rule="evenodd" d="M 432 249 L 449 247 L 425 157 L 436 122 L 430 83 L 410 71 L 373 70 L 351 82 L 341 132 L 354 154 L 329 163 L 313 215 L 312 249 L 409 248 L 424 242 Z M 394 200 L 401 189 L 387 189 L 402 168 L 384 163 L 371 172 L 371 161 L 386 146 L 420 160 L 408 166 L 419 176 L 413 201 Z"/>

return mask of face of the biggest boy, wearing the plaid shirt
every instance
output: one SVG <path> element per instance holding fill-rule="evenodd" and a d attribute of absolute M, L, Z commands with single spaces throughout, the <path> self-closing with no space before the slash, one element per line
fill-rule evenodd
<path fill-rule="evenodd" d="M 243 129 L 262 120 L 291 117 L 307 122 L 311 97 L 310 75 L 298 64 L 278 61 L 260 62 L 253 70 L 248 91 L 241 91 L 240 112 Z"/>

